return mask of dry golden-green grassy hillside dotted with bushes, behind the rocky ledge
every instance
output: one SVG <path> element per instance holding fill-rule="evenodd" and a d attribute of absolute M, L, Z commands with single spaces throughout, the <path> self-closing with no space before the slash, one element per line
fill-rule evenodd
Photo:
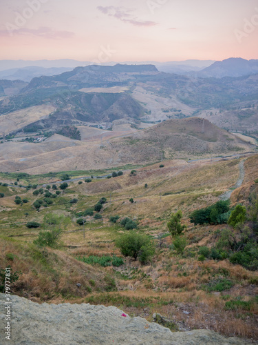
<path fill-rule="evenodd" d="M 17 188 L 17 193 L 14 187 L 1 186 L 6 196 L 0 199 L 0 261 L 2 268 L 10 265 L 13 273 L 18 272 L 13 293 L 37 302 L 115 305 L 149 320 L 153 313 L 161 313 L 171 319 L 173 330 L 209 328 L 258 339 L 257 271 L 230 262 L 229 256 L 215 256 L 220 234 L 230 226 L 194 226 L 189 219 L 193 210 L 215 204 L 219 195 L 235 185 L 240 160 L 164 161 L 163 168 L 153 164 L 118 177 L 74 181 L 65 190 L 57 184 L 61 194 L 50 197 L 53 203 L 48 206 L 44 194 L 34 195 L 34 191 L 43 184 L 45 190 L 54 177 L 25 176 L 23 183 L 33 181 L 39 186 Z M 231 208 L 239 203 L 237 195 L 247 208 L 250 193 L 257 195 L 257 163 L 258 155 L 246 159 L 244 184 L 234 191 Z M 1 175 L 1 181 L 8 181 L 8 176 Z M 9 179 L 13 181 L 14 175 Z M 50 192 L 55 194 L 56 190 L 50 188 Z M 18 193 L 28 203 L 15 204 Z M 85 210 L 94 208 L 103 197 L 107 200 L 100 212 L 84 216 Z M 33 204 L 41 199 L 43 206 L 37 212 Z M 182 237 L 187 241 L 181 254 L 175 250 L 166 225 L 171 213 L 179 209 L 186 226 Z M 61 225 L 61 242 L 54 248 L 34 244 L 40 231 L 53 229 L 45 223 L 50 213 L 70 219 L 67 226 Z M 109 221 L 116 215 L 120 217 L 116 223 Z M 77 223 L 81 217 L 86 221 L 84 226 Z M 137 223 L 131 231 L 146 234 L 155 244 L 155 255 L 146 264 L 124 257 L 115 245 L 118 237 L 129 233 L 120 225 L 125 217 Z M 30 221 L 41 227 L 26 227 Z M 252 228 L 249 221 L 246 226 Z M 237 230 L 234 232 L 238 236 Z M 257 235 L 253 239 L 257 241 Z M 203 247 L 212 256 L 201 257 Z"/>

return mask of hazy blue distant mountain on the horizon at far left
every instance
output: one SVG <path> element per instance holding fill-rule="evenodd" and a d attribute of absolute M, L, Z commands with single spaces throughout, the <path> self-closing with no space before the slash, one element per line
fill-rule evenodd
<path fill-rule="evenodd" d="M 71 67 L 52 67 L 52 68 L 43 68 L 43 67 L 24 67 L 24 68 L 12 68 L 10 70 L 4 70 L 0 72 L 0 79 L 8 80 L 23 80 L 30 82 L 35 77 L 41 77 L 43 75 L 52 76 L 52 75 L 61 75 L 63 72 L 68 72 L 73 70 Z"/>

